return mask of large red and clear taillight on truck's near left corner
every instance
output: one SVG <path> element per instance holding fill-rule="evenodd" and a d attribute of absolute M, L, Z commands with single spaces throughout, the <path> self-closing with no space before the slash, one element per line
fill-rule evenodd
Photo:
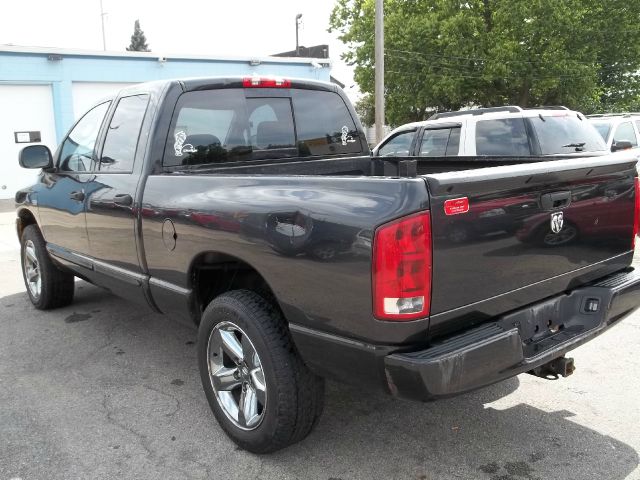
<path fill-rule="evenodd" d="M 373 313 L 413 320 L 431 306 L 431 216 L 410 215 L 381 226 L 373 239 Z"/>

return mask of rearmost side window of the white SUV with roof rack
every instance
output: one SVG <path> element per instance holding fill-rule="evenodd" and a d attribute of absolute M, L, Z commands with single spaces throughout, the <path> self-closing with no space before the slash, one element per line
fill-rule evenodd
<path fill-rule="evenodd" d="M 521 157 L 530 154 L 524 119 L 481 120 L 476 124 L 476 155 Z"/>

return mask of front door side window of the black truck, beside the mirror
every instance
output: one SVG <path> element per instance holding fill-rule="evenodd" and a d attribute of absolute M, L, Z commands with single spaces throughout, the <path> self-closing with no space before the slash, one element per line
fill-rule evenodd
<path fill-rule="evenodd" d="M 58 168 L 63 172 L 88 172 L 93 166 L 93 151 L 104 116 L 111 102 L 89 110 L 76 123 L 60 147 Z"/>

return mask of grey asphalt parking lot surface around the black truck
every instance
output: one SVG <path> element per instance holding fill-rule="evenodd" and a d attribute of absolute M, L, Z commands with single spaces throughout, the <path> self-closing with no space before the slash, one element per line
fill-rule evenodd
<path fill-rule="evenodd" d="M 428 404 L 328 382 L 312 434 L 257 456 L 210 413 L 195 329 L 85 282 L 36 311 L 6 210 L 0 271 L 0 480 L 640 479 L 638 313 L 572 352 L 567 379 Z"/>

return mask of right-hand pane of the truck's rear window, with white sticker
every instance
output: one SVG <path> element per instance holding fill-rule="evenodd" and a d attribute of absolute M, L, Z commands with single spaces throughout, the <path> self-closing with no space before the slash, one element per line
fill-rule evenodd
<path fill-rule="evenodd" d="M 360 134 L 340 95 L 293 90 L 292 96 L 300 156 L 362 152 Z"/>

